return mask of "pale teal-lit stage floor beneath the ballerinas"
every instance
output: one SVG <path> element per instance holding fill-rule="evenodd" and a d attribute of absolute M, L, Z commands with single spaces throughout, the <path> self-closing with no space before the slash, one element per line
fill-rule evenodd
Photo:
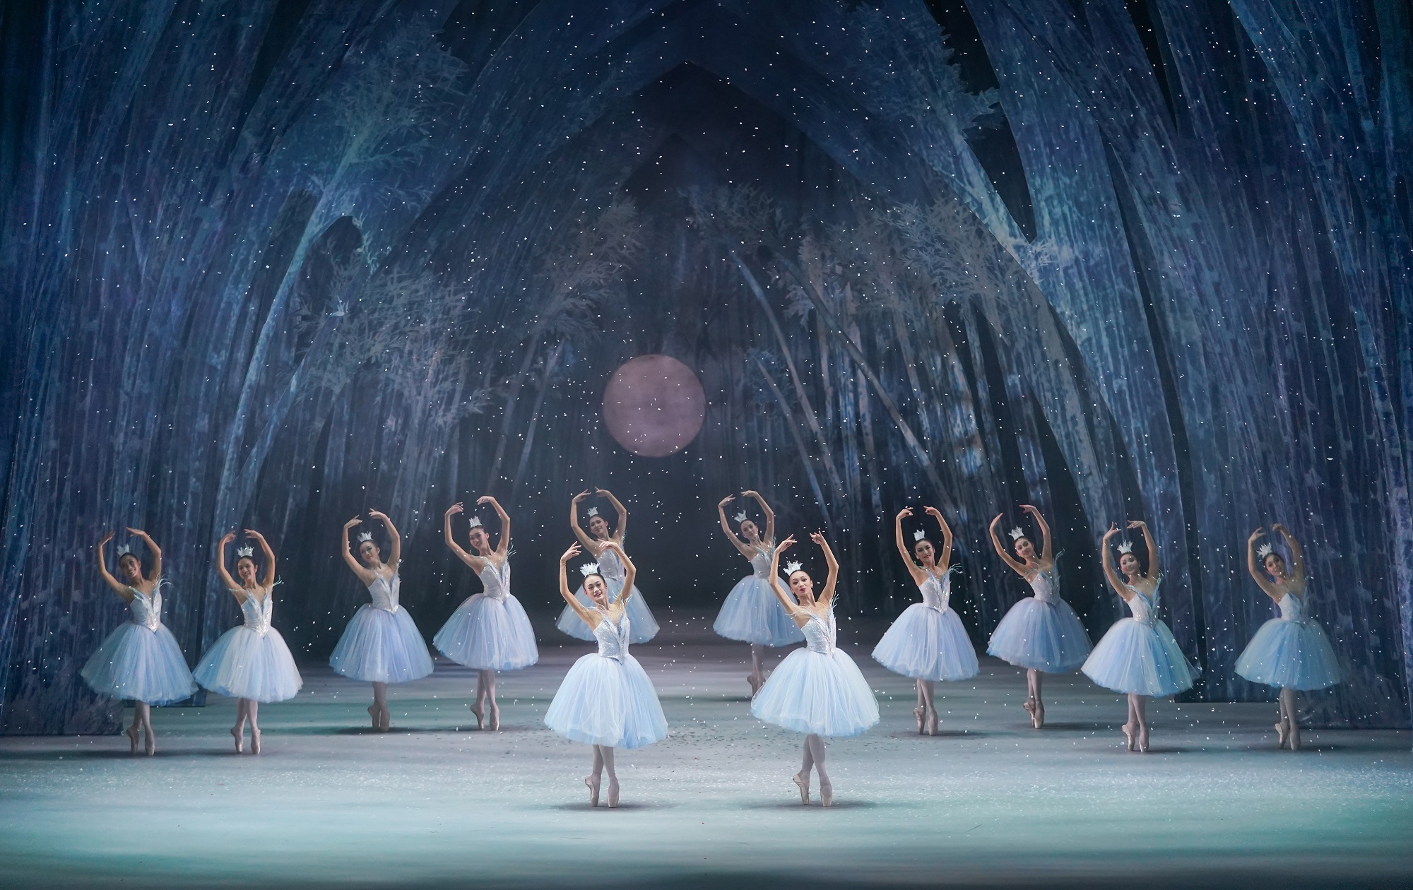
<path fill-rule="evenodd" d="M 259 757 L 232 752 L 220 698 L 155 711 L 151 759 L 122 736 L 3 737 L 0 886 L 1413 884 L 1407 732 L 1276 752 L 1273 704 L 1154 702 L 1153 752 L 1133 754 L 1121 696 L 1048 677 L 1036 732 L 1022 671 L 985 658 L 938 684 L 926 737 L 911 681 L 856 639 L 876 629 L 846 623 L 883 722 L 829 743 L 835 807 L 804 808 L 801 737 L 750 716 L 746 647 L 708 616 L 663 623 L 633 653 L 671 730 L 619 753 L 616 811 L 588 805 L 588 746 L 541 725 L 589 646 L 541 633 L 541 663 L 500 678 L 499 733 L 466 709 L 473 672 L 438 660 L 393 687 L 387 735 L 366 684 L 308 665 L 298 698 L 260 709 Z"/>

